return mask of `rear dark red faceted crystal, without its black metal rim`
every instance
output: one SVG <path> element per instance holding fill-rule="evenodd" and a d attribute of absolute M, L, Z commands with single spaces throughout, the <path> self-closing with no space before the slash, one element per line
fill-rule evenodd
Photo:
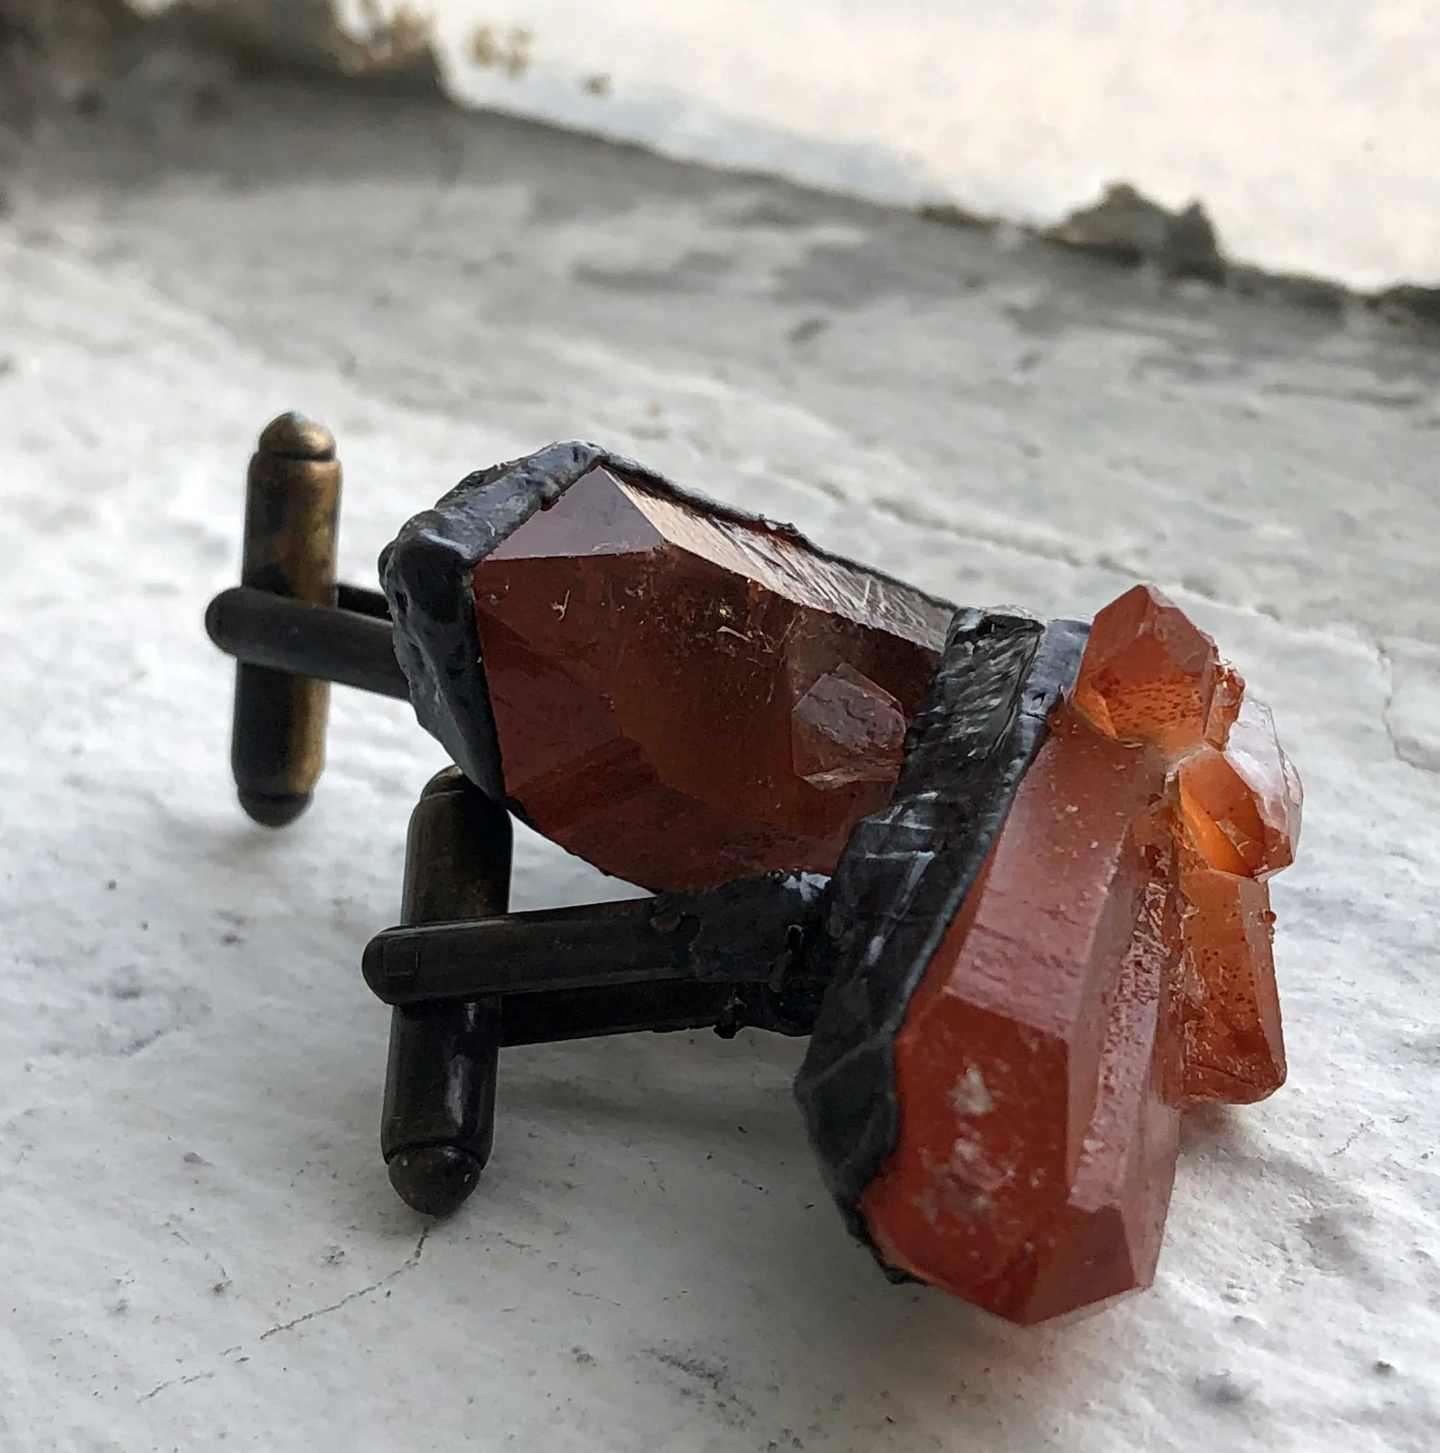
<path fill-rule="evenodd" d="M 949 607 L 594 468 L 475 570 L 505 790 L 652 889 L 830 872 L 884 806 Z"/>

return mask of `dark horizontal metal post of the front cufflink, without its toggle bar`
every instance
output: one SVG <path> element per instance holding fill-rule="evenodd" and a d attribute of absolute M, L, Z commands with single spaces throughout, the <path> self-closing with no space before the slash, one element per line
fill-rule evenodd
<path fill-rule="evenodd" d="M 698 892 L 388 928 L 366 947 L 364 976 L 385 1003 L 404 1005 L 517 997 L 559 1005 L 588 995 L 597 1023 L 588 1033 L 614 1032 L 598 1027 L 607 1005 L 643 1019 L 647 1000 L 662 1019 L 684 1007 L 716 1023 L 737 989 L 784 997 L 803 979 L 822 888 L 817 878 L 764 873 Z M 637 997 L 640 985 L 655 992 Z M 672 985 L 716 992 L 660 992 Z M 531 1023 L 536 1008 L 520 1011 L 527 1037 L 543 1027 Z"/>

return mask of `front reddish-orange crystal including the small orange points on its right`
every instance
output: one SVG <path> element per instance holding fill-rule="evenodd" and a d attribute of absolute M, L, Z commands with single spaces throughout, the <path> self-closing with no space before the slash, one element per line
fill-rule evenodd
<path fill-rule="evenodd" d="M 1150 1283 L 1182 1109 L 1285 1080 L 1264 881 L 1299 811 L 1211 638 L 1145 586 L 1102 610 L 896 1036 L 884 1261 L 1019 1322 Z"/>

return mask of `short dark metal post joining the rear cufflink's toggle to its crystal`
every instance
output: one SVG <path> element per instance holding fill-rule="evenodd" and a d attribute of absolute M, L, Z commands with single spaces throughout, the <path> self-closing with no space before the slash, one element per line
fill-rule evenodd
<path fill-rule="evenodd" d="M 205 629 L 215 645 L 248 665 L 409 700 L 388 619 L 235 586 L 210 602 Z"/>

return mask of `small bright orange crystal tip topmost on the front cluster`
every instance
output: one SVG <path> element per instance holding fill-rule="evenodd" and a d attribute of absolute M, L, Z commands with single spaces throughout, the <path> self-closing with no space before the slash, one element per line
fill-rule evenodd
<path fill-rule="evenodd" d="M 1215 642 L 1154 586 L 1135 586 L 1095 618 L 1073 700 L 1108 737 L 1177 751 L 1203 738 L 1219 679 Z"/>

